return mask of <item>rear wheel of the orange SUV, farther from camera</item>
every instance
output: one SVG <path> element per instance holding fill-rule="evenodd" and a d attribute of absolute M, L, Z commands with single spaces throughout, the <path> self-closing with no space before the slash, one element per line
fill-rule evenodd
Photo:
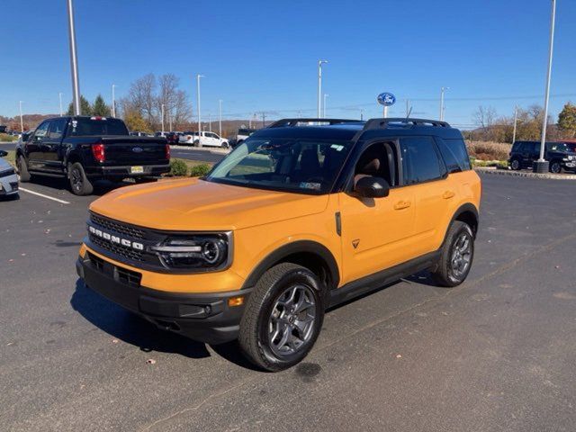
<path fill-rule="evenodd" d="M 462 284 L 474 257 L 474 235 L 467 223 L 456 220 L 448 229 L 434 278 L 437 284 L 453 287 Z"/>

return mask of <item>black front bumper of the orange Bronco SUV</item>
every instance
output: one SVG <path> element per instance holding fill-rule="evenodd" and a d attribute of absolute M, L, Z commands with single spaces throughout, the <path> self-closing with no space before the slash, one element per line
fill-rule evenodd
<path fill-rule="evenodd" d="M 89 251 L 78 257 L 76 273 L 96 293 L 139 314 L 160 329 L 174 331 L 207 344 L 238 337 L 239 323 L 251 289 L 226 293 L 166 293 L 139 284 L 141 275 L 116 266 Z M 229 298 L 241 295 L 241 306 Z"/>

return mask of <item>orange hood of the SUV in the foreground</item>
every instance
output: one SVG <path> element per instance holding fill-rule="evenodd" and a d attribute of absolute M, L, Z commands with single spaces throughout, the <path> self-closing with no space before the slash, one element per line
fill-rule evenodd
<path fill-rule="evenodd" d="M 328 200 L 328 195 L 266 191 L 192 178 L 122 187 L 94 201 L 90 210 L 154 229 L 229 230 L 319 213 Z"/>

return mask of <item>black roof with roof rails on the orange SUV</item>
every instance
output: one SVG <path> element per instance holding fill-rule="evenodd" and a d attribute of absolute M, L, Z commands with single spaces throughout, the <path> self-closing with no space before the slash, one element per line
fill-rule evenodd
<path fill-rule="evenodd" d="M 308 124 L 302 124 L 308 123 Z M 314 124 L 320 123 L 320 124 Z M 410 135 L 433 135 L 444 139 L 462 139 L 462 133 L 446 121 L 427 119 L 388 118 L 368 121 L 344 119 L 283 119 L 252 137 L 308 139 L 372 139 Z"/>

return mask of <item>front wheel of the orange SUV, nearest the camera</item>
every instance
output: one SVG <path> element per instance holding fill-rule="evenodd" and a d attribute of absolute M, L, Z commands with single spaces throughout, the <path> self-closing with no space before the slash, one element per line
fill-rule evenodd
<path fill-rule="evenodd" d="M 269 269 L 250 295 L 239 345 L 258 367 L 276 372 L 298 364 L 324 320 L 322 284 L 309 269 L 282 263 Z"/>

